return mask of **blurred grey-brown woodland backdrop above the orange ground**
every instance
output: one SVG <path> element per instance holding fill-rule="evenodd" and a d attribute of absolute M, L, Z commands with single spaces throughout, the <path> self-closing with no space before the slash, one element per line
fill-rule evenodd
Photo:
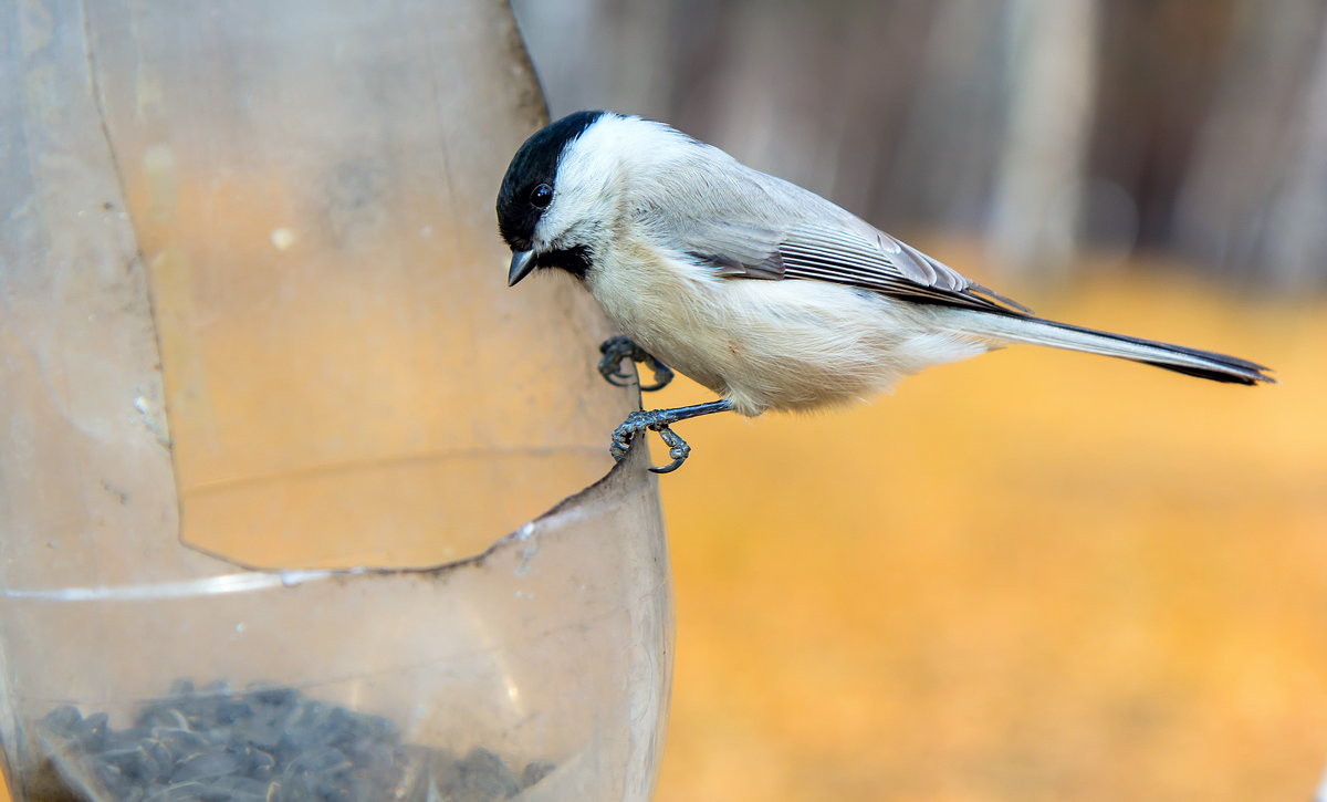
<path fill-rule="evenodd" d="M 1327 278 L 1322 0 L 516 0 L 552 112 L 667 121 L 1003 270 Z"/>

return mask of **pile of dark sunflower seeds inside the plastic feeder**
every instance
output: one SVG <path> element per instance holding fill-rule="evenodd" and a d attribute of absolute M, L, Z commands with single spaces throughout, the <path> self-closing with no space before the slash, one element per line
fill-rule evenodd
<path fill-rule="evenodd" d="M 179 682 L 127 729 L 62 706 L 40 736 L 50 757 L 32 789 L 41 802 L 491 802 L 552 770 L 532 762 L 518 774 L 486 749 L 456 757 L 402 744 L 391 721 L 293 688 Z"/>

